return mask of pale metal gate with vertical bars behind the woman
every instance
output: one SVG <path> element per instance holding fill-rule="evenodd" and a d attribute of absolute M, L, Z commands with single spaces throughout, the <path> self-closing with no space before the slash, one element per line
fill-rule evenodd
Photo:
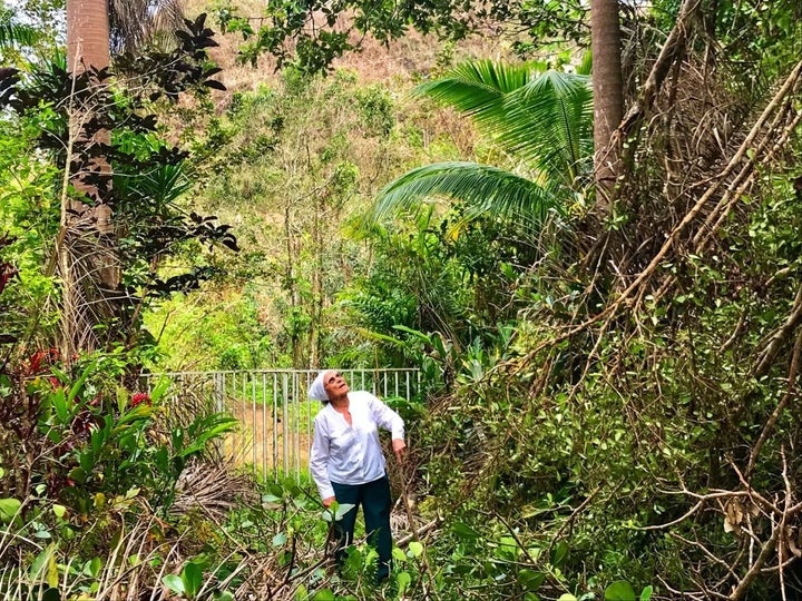
<path fill-rule="evenodd" d="M 353 391 L 380 398 L 412 398 L 419 388 L 418 370 L 340 370 Z M 172 413 L 179 422 L 198 413 L 227 412 L 241 427 L 223 441 L 226 459 L 262 477 L 306 473 L 312 444 L 312 420 L 321 407 L 306 391 L 317 370 L 253 370 L 238 372 L 175 372 L 145 376 L 151 386 L 162 376 L 172 380 Z"/>

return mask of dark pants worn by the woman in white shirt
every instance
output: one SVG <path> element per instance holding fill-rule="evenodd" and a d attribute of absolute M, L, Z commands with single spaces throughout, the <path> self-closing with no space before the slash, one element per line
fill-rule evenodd
<path fill-rule="evenodd" d="M 390 532 L 390 481 L 387 475 L 368 484 L 338 484 L 332 482 L 334 496 L 339 504 L 353 504 L 354 508 L 338 521 L 340 542 L 335 553 L 338 563 L 345 556 L 345 548 L 353 542 L 353 529 L 356 523 L 356 510 L 362 505 L 365 518 L 365 532 L 369 542 L 379 553 L 376 582 L 390 575 L 392 556 L 392 534 Z"/>

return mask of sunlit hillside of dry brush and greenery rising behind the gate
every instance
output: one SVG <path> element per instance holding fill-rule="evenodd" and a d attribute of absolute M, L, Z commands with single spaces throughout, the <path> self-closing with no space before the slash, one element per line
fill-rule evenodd
<path fill-rule="evenodd" d="M 188 8 L 190 16 L 203 10 L 207 4 L 200 2 Z M 189 304 L 168 302 L 146 316 L 150 329 L 160 333 L 162 368 L 314 365 L 322 339 L 363 344 L 353 331 L 342 329 L 335 297 L 362 277 L 359 265 L 371 260 L 370 252 L 356 238 L 342 238 L 341 227 L 405 170 L 486 151 L 475 148 L 468 121 L 409 92 L 432 70 L 490 52 L 496 43 L 477 38 L 444 47 L 414 32 L 390 48 L 366 39 L 363 51 L 336 61 L 327 78 L 293 90 L 268 57 L 256 68 L 237 63 L 241 39 L 217 36 L 221 46 L 211 51 L 227 87 L 212 92 L 213 114 L 185 117 L 175 126 L 184 130 L 183 144 L 208 146 L 214 138 L 214 152 L 198 168 L 203 178 L 211 171 L 216 176 L 199 188 L 193 206 L 231 224 L 243 252 L 200 259 L 199 265 L 226 275 L 216 276 Z M 299 162 L 300 156 L 306 158 Z M 336 191 L 340 205 L 326 224 L 324 236 L 339 242 L 329 246 L 329 256 L 312 259 L 322 247 L 315 250 L 320 243 L 310 240 L 317 227 L 310 197 L 336 179 L 338 169 L 354 177 Z M 322 276 L 316 265 L 340 266 L 342 274 Z M 313 285 L 324 290 L 316 307 L 309 292 Z M 313 314 L 329 317 L 309 324 Z M 311 329 L 301 334 L 300 324 Z"/>

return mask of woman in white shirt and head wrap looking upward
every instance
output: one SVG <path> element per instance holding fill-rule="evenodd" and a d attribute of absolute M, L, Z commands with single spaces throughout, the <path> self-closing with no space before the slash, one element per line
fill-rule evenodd
<path fill-rule="evenodd" d="M 392 449 L 399 463 L 403 459 L 403 420 L 365 391 L 349 391 L 343 376 L 334 371 L 317 374 L 309 390 L 310 398 L 323 402 L 314 420 L 310 472 L 323 505 L 353 504 L 338 522 L 340 542 L 335 558 L 342 562 L 345 546 L 353 542 L 356 511 L 362 505 L 365 531 L 379 553 L 376 582 L 390 575 L 392 535 L 390 533 L 390 482 L 378 426 L 392 432 Z"/>

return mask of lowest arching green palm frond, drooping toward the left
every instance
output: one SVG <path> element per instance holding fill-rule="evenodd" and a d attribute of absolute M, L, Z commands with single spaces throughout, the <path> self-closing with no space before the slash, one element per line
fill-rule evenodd
<path fill-rule="evenodd" d="M 370 220 L 415 210 L 422 200 L 459 199 L 467 217 L 491 213 L 508 219 L 542 224 L 549 211 L 563 211 L 557 190 L 510 171 L 476 162 L 437 162 L 413 169 L 379 193 Z"/>

